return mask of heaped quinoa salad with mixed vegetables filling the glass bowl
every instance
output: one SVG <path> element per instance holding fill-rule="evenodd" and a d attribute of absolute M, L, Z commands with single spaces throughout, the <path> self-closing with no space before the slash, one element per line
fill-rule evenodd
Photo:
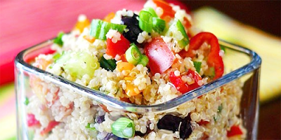
<path fill-rule="evenodd" d="M 79 15 L 51 49 L 32 65 L 136 105 L 162 104 L 224 73 L 225 51 L 216 36 L 193 27 L 190 12 L 162 0 L 103 20 Z M 120 111 L 34 75 L 29 81 L 32 139 L 246 139 L 237 80 L 159 113 Z"/>

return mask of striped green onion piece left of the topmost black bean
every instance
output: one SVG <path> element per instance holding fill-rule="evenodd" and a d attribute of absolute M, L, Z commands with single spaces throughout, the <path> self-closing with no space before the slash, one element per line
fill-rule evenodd
<path fill-rule="evenodd" d="M 117 25 L 110 22 L 104 22 L 103 20 L 92 20 L 90 35 L 94 38 L 106 40 L 105 35 L 110 29 L 116 29 L 122 34 L 124 29 L 126 29 L 126 25 Z"/>

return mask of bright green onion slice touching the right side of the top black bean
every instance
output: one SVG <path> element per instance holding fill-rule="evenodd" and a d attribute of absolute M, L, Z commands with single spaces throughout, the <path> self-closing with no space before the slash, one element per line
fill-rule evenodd
<path fill-rule="evenodd" d="M 151 33 L 152 31 L 152 15 L 148 11 L 141 10 L 139 14 L 138 25 L 143 31 Z"/>

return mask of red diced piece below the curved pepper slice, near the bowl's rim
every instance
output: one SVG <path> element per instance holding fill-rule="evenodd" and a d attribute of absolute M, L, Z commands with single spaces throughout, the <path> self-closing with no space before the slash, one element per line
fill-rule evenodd
<path fill-rule="evenodd" d="M 201 80 L 202 78 L 198 73 L 192 70 L 188 70 L 187 75 L 188 76 L 191 75 L 190 77 L 194 78 L 195 83 L 188 85 L 188 83 L 185 83 L 181 79 L 181 76 L 175 76 L 174 71 L 170 73 L 169 80 L 171 81 L 171 83 L 173 83 L 176 89 L 181 93 L 189 92 L 190 90 L 194 90 L 195 88 L 200 87 L 200 85 L 198 85 L 198 81 Z"/>

